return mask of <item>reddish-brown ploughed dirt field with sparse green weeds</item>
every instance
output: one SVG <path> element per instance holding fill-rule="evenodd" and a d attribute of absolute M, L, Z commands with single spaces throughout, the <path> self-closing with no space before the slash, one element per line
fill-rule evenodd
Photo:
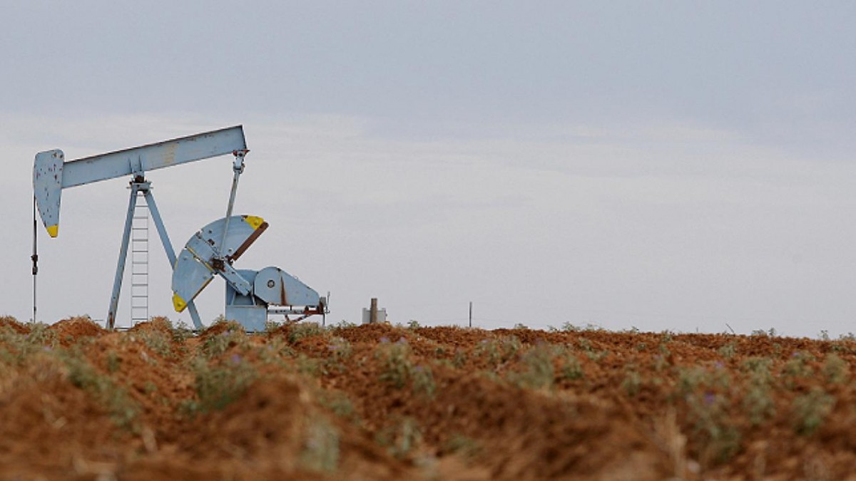
<path fill-rule="evenodd" d="M 851 339 L 0 318 L 0 479 L 854 478 L 854 362 Z"/>

